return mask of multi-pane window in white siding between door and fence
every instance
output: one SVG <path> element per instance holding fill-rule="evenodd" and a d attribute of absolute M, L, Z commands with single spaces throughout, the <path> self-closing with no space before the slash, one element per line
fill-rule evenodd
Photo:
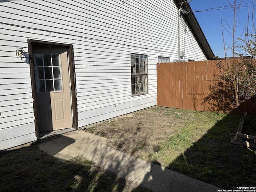
<path fill-rule="evenodd" d="M 148 93 L 148 56 L 131 54 L 132 96 Z"/>

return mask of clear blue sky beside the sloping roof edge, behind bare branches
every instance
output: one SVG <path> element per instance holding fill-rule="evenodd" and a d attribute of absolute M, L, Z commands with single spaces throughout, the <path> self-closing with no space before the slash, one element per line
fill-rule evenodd
<path fill-rule="evenodd" d="M 230 3 L 234 3 L 234 0 L 230 0 Z M 240 3 L 241 0 L 237 0 L 237 3 Z M 250 12 L 252 12 L 252 4 L 254 0 L 243 0 L 241 8 L 238 13 L 238 21 L 240 22 L 235 33 L 236 37 L 239 37 L 241 34 L 244 34 L 244 27 L 248 21 L 248 6 L 250 6 Z M 230 26 L 233 26 L 234 11 L 229 8 L 227 0 L 192 0 L 190 3 L 192 8 L 212 51 L 215 56 L 224 57 L 224 48 L 223 48 L 223 38 L 222 38 L 222 27 L 221 27 L 221 14 L 222 14 L 222 23 L 226 28 L 228 28 L 224 19 Z M 226 6 L 226 7 L 220 7 Z M 216 8 L 220 7 L 220 8 Z M 215 8 L 215 10 L 196 12 L 200 10 Z M 256 7 L 255 7 L 256 8 Z M 219 9 L 219 10 L 216 10 Z M 256 11 L 255 11 L 256 12 Z M 254 14 L 255 15 L 255 14 Z M 252 15 L 249 17 L 249 29 L 252 30 Z M 256 20 L 256 16 L 255 19 Z M 255 22 L 254 22 L 255 23 Z M 224 30 L 224 36 L 226 36 L 227 42 L 230 42 L 232 35 Z M 227 56 L 231 57 L 232 53 L 227 52 Z"/>

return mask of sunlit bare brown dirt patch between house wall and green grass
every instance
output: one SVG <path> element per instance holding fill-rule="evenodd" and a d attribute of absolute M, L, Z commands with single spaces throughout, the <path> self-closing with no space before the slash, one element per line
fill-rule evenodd
<path fill-rule="evenodd" d="M 146 154 L 158 152 L 158 143 L 164 142 L 166 136 L 178 132 L 185 118 L 188 120 L 193 115 L 155 106 L 119 116 L 86 131 L 110 138 L 109 146 L 112 148 L 146 158 Z"/>

